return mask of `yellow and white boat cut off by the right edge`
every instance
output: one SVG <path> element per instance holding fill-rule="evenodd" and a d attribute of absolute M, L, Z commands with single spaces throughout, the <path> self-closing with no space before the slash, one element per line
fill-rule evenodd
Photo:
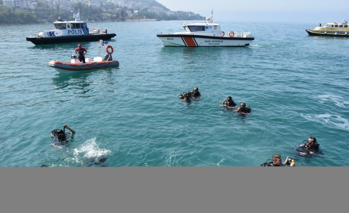
<path fill-rule="evenodd" d="M 342 24 L 337 22 L 327 23 L 325 26 L 314 27 L 312 30 L 305 30 L 309 36 L 336 36 L 349 37 L 348 20 L 343 20 Z"/>

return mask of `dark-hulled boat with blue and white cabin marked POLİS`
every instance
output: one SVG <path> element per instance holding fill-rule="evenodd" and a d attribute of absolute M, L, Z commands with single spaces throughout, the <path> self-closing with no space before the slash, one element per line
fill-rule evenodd
<path fill-rule="evenodd" d="M 99 28 L 93 28 L 89 32 L 87 24 L 81 21 L 80 9 L 75 21 L 61 20 L 53 22 L 56 29 L 40 32 L 38 36 L 27 37 L 27 41 L 39 44 L 68 43 L 68 42 L 93 42 L 99 40 L 110 40 L 116 34 L 108 34 L 107 29 L 101 31 Z"/>

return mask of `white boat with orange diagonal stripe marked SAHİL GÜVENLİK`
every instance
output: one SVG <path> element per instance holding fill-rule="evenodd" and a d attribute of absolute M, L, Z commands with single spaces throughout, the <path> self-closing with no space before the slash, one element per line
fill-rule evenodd
<path fill-rule="evenodd" d="M 174 34 L 157 34 L 164 46 L 248 46 L 255 38 L 251 32 L 224 32 L 220 25 L 211 18 L 206 22 L 186 24 L 182 23 L 184 32 Z"/>

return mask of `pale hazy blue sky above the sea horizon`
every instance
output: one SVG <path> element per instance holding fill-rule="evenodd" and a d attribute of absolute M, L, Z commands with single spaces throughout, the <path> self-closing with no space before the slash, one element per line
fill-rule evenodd
<path fill-rule="evenodd" d="M 172 11 L 187 11 L 227 21 L 301 23 L 341 22 L 349 18 L 348 0 L 156 0 Z"/>

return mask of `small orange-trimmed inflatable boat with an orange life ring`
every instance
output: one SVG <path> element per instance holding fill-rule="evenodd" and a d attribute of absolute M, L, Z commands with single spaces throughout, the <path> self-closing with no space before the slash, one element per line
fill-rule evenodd
<path fill-rule="evenodd" d="M 108 67 L 119 67 L 119 61 L 112 60 L 112 61 L 105 61 L 104 58 L 99 56 L 100 48 L 103 45 L 106 45 L 105 51 L 108 54 L 113 54 L 114 49 L 111 45 L 107 45 L 108 42 L 103 42 L 103 40 L 99 41 L 97 51 L 98 56 L 94 57 L 93 59 L 86 58 L 85 62 L 81 62 L 76 57 L 75 51 L 72 51 L 71 54 L 71 61 L 70 62 L 61 62 L 56 60 L 51 60 L 48 62 L 48 65 L 52 68 L 55 68 L 60 73 L 65 72 L 71 72 L 71 71 L 86 71 L 86 70 L 95 70 L 95 69 L 102 69 L 102 68 L 108 68 Z"/>

